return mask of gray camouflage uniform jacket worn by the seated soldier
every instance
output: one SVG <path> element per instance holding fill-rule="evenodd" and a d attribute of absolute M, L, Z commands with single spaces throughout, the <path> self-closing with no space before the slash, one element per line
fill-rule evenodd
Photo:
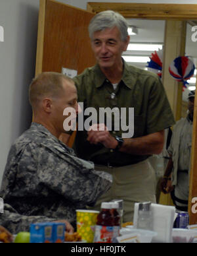
<path fill-rule="evenodd" d="M 95 205 L 112 185 L 112 176 L 94 167 L 32 123 L 11 147 L 0 197 L 24 216 L 76 222 L 76 209 Z"/>

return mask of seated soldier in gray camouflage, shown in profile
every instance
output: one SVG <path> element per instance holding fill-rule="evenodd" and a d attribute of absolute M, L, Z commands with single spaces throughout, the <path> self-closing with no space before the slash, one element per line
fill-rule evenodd
<path fill-rule="evenodd" d="M 76 209 L 95 205 L 112 177 L 58 140 L 68 118 L 64 110 L 79 111 L 72 79 L 42 73 L 30 85 L 30 104 L 34 122 L 11 147 L 0 197 L 23 216 L 66 219 L 75 226 Z"/>

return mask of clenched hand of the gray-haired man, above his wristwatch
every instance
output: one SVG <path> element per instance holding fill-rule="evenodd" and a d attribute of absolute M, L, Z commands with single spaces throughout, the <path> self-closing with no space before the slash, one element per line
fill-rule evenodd
<path fill-rule="evenodd" d="M 87 141 L 91 144 L 102 143 L 106 148 L 116 148 L 118 146 L 118 141 L 110 135 L 104 123 L 92 125 L 87 135 Z"/>

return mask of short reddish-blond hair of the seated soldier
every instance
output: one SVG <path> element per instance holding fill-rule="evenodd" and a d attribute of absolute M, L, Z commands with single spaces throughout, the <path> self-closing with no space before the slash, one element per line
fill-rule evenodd
<path fill-rule="evenodd" d="M 32 108 L 36 108 L 41 99 L 45 97 L 57 98 L 63 90 L 63 80 L 74 84 L 70 77 L 61 73 L 45 72 L 32 80 L 29 90 L 29 100 Z"/>

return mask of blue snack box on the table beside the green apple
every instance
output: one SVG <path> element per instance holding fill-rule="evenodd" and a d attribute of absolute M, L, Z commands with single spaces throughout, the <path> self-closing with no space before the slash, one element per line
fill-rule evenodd
<path fill-rule="evenodd" d="M 64 223 L 44 222 L 30 226 L 30 243 L 64 243 Z"/>

